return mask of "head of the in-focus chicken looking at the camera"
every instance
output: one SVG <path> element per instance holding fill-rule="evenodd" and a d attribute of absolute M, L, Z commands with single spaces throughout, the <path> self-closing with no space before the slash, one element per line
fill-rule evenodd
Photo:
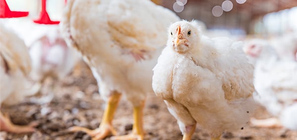
<path fill-rule="evenodd" d="M 200 41 L 200 27 L 196 21 L 179 21 L 173 23 L 168 30 L 167 46 L 178 53 L 186 53 Z"/>

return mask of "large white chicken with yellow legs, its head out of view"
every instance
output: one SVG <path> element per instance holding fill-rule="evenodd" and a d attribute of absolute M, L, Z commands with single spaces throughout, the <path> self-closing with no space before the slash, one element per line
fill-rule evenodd
<path fill-rule="evenodd" d="M 143 107 L 151 88 L 152 68 L 166 44 L 166 28 L 179 20 L 150 0 L 69 0 L 61 21 L 67 44 L 77 48 L 98 81 L 107 102 L 96 130 L 81 127 L 94 139 L 115 134 L 112 119 L 121 95 L 133 105 L 132 134 L 115 139 L 143 140 Z"/>

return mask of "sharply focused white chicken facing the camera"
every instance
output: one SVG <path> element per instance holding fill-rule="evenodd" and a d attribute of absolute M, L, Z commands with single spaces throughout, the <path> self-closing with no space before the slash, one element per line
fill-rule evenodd
<path fill-rule="evenodd" d="M 203 36 L 195 21 L 176 22 L 168 31 L 152 88 L 177 119 L 183 140 L 191 140 L 197 123 L 212 140 L 246 126 L 254 87 L 243 43 Z"/>

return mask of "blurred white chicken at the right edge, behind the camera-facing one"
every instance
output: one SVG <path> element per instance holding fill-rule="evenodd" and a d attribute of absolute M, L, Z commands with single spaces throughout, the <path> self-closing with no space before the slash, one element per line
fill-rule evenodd
<path fill-rule="evenodd" d="M 247 55 L 256 59 L 254 86 L 259 96 L 255 100 L 277 117 L 256 120 L 255 126 L 297 130 L 297 63 L 280 59 L 272 45 L 263 39 L 252 39 L 245 47 Z"/>

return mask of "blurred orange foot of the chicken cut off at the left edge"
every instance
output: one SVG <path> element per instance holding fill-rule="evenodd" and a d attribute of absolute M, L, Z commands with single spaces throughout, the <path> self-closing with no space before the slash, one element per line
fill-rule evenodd
<path fill-rule="evenodd" d="M 38 125 L 37 122 L 31 122 L 28 125 L 20 126 L 15 125 L 10 121 L 8 114 L 3 115 L 0 112 L 0 131 L 6 131 L 10 133 L 31 133 L 35 131 L 35 127 Z"/>

